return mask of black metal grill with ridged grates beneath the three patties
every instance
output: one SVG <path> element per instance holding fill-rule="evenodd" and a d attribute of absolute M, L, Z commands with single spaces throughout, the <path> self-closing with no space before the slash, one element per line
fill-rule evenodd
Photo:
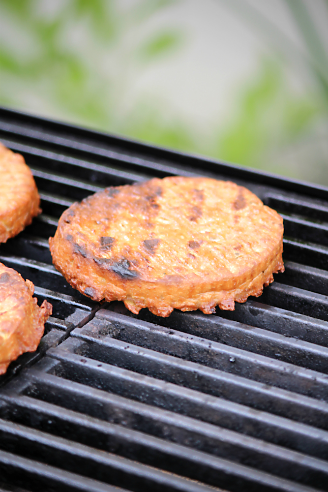
<path fill-rule="evenodd" d="M 54 312 L 0 377 L 0 487 L 36 492 L 328 490 L 328 188 L 0 109 L 42 215 L 0 261 Z M 231 179 L 283 215 L 286 271 L 215 315 L 93 303 L 47 239 L 75 200 L 152 177 Z"/>

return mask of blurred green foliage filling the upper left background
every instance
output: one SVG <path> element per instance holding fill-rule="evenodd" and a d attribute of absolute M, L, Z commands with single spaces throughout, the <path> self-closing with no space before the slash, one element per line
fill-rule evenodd
<path fill-rule="evenodd" d="M 126 72 L 138 72 L 145 62 L 153 62 L 178 49 L 181 32 L 164 30 L 141 36 L 128 45 L 131 30 L 142 28 L 160 9 L 175 4 L 172 0 L 140 0 L 125 10 L 115 0 L 67 0 L 59 3 L 51 15 L 43 12 L 36 0 L 3 0 L 0 16 L 25 35 L 34 49 L 22 56 L 8 39 L 0 36 L 0 102 L 14 100 L 15 105 L 33 111 L 24 93 L 32 92 L 56 117 L 109 131 L 122 131 L 120 106 L 124 98 Z M 71 29 L 83 31 L 83 48 L 70 39 Z M 10 40 L 9 40 L 10 41 Z M 116 73 L 106 71 L 104 60 L 121 54 Z M 113 70 L 114 72 L 114 70 Z M 22 88 L 21 98 L 11 97 L 12 88 Z M 49 111 L 49 109 L 48 109 Z M 132 131 L 129 116 L 127 126 Z M 133 132 L 132 132 L 133 133 Z M 179 140 L 179 139 L 178 139 Z"/>

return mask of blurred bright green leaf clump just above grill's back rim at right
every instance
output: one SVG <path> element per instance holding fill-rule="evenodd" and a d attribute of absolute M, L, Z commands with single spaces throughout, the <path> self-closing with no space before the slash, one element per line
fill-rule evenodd
<path fill-rule="evenodd" d="M 238 100 L 233 121 L 220 130 L 213 154 L 252 167 L 263 156 L 298 138 L 313 122 L 318 106 L 286 87 L 278 62 L 263 60 L 261 70 Z"/>

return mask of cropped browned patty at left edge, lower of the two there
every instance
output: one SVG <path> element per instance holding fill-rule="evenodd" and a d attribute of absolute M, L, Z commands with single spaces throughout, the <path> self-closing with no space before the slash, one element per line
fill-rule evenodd
<path fill-rule="evenodd" d="M 34 285 L 0 263 L 0 374 L 24 352 L 36 350 L 52 306 L 38 307 Z"/>

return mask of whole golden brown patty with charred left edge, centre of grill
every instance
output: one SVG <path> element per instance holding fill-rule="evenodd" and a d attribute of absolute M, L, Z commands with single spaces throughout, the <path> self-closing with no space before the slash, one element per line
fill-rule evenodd
<path fill-rule="evenodd" d="M 95 301 L 134 313 L 234 309 L 284 270 L 282 218 L 243 186 L 172 177 L 74 203 L 49 239 L 54 265 Z"/>

